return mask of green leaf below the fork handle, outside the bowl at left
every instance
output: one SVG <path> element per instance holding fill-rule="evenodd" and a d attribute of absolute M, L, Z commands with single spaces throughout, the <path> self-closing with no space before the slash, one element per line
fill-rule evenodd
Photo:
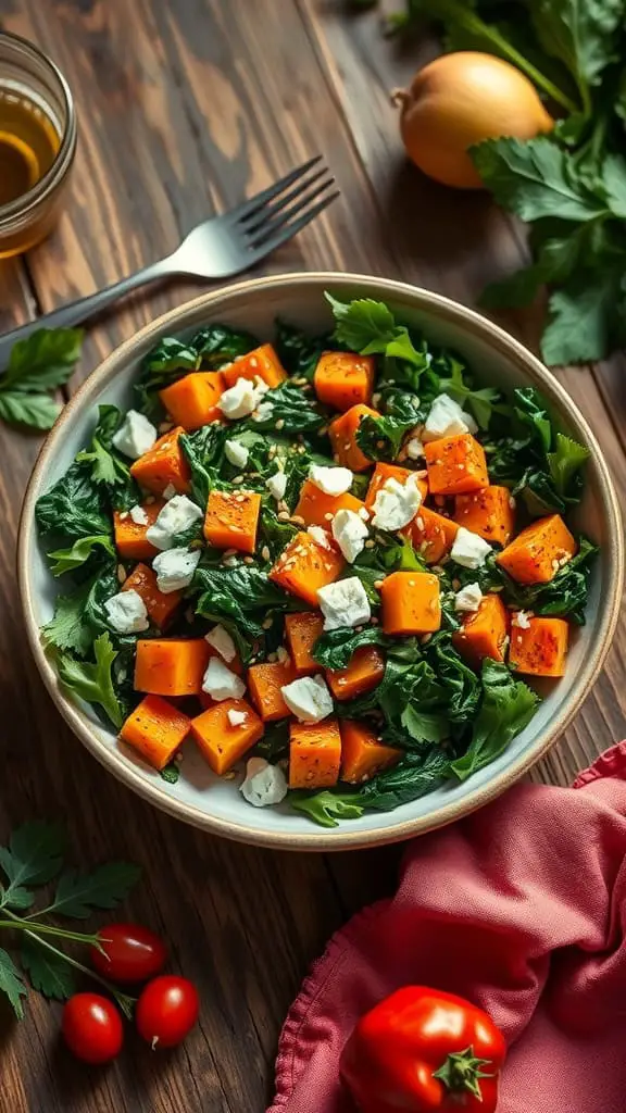
<path fill-rule="evenodd" d="M 0 417 L 11 424 L 50 429 L 61 406 L 48 392 L 67 383 L 81 344 L 79 328 L 39 328 L 13 344 L 0 378 Z"/>

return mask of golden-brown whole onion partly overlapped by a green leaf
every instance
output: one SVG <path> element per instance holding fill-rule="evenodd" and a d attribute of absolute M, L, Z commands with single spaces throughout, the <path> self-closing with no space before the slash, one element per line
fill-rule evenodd
<path fill-rule="evenodd" d="M 468 148 L 483 139 L 532 139 L 555 121 L 515 66 L 478 51 L 443 55 L 393 93 L 407 154 L 423 174 L 457 189 L 483 189 Z"/>

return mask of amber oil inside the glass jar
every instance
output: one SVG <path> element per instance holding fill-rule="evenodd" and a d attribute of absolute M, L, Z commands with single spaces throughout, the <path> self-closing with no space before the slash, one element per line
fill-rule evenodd
<path fill-rule="evenodd" d="M 0 206 L 18 200 L 41 180 L 60 141 L 41 105 L 0 78 Z"/>

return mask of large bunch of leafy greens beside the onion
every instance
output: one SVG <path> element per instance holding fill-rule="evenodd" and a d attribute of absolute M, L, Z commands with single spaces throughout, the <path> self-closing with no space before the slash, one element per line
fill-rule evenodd
<path fill-rule="evenodd" d="M 547 285 L 546 363 L 606 357 L 626 342 L 626 0 L 405 0 L 390 29 L 424 21 L 447 50 L 511 62 L 560 117 L 548 136 L 471 151 L 498 204 L 531 226 L 531 263 L 482 304 L 528 305 Z"/>

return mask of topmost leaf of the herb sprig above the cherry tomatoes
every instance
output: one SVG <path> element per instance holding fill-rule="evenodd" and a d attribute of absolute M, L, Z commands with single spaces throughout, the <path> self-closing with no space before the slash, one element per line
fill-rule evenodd
<path fill-rule="evenodd" d="M 18 827 L 9 846 L 0 847 L 0 867 L 9 880 L 1 892 L 0 906 L 29 907 L 32 897 L 25 886 L 45 885 L 58 874 L 65 845 L 65 833 L 58 824 L 32 820 Z"/>

